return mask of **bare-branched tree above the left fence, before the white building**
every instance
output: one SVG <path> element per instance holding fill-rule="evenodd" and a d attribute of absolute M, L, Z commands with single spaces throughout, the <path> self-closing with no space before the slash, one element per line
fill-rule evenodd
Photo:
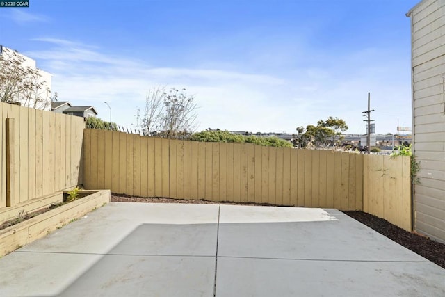
<path fill-rule="evenodd" d="M 26 66 L 15 51 L 3 47 L 0 54 L 0 102 L 20 102 L 23 106 L 45 109 L 51 104 L 49 88 L 44 88 L 40 70 Z"/>

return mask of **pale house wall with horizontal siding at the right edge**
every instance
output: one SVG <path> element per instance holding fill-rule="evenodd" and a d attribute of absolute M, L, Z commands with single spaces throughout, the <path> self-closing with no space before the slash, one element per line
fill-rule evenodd
<path fill-rule="evenodd" d="M 423 0 L 407 16 L 412 30 L 415 229 L 445 242 L 445 0 Z"/>

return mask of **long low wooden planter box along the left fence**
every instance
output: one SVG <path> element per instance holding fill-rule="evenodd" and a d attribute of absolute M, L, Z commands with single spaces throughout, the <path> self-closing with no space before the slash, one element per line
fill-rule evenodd
<path fill-rule="evenodd" d="M 90 195 L 0 230 L 0 257 L 110 202 L 110 190 L 79 191 L 79 193 L 86 192 Z"/>

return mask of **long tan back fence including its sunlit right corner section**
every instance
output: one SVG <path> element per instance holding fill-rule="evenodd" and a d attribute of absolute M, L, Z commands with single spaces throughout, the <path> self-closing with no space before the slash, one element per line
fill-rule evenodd
<path fill-rule="evenodd" d="M 83 185 L 142 197 L 364 210 L 411 230 L 409 158 L 86 129 Z"/>

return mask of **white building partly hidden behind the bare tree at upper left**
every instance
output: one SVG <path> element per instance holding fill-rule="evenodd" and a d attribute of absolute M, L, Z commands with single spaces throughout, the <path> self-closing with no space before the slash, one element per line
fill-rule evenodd
<path fill-rule="evenodd" d="M 22 67 L 30 67 L 33 70 L 38 70 L 40 74 L 40 79 L 38 83 L 42 83 L 42 88 L 38 91 L 38 100 L 35 100 L 35 95 L 25 98 L 24 95 L 18 95 L 13 102 L 19 102 L 21 106 L 32 107 L 34 109 L 42 109 L 45 111 L 51 110 L 51 74 L 44 70 L 40 70 L 35 65 L 35 60 L 19 54 L 19 52 L 9 49 L 8 47 L 3 47 L 0 45 L 0 56 L 3 58 L 14 58 L 17 56 L 22 61 Z"/>

